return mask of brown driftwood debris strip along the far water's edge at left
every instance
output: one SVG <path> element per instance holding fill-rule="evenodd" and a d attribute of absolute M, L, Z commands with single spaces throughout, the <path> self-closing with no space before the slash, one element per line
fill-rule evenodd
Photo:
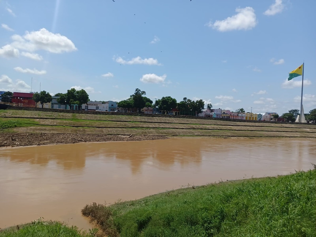
<path fill-rule="evenodd" d="M 70 144 L 80 142 L 143 141 L 167 139 L 163 136 L 149 135 L 106 135 L 70 133 L 0 133 L 0 147 Z"/>

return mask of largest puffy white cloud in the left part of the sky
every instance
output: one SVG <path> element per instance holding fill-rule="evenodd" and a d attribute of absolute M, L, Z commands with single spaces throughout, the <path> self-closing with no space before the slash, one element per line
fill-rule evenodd
<path fill-rule="evenodd" d="M 46 50 L 52 53 L 76 51 L 74 43 L 66 36 L 52 33 L 45 28 L 39 31 L 26 31 L 23 36 L 12 35 L 11 46 L 28 52 Z"/>

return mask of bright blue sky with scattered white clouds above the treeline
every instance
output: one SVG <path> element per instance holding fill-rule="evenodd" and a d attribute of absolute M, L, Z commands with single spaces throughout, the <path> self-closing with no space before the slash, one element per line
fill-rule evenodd
<path fill-rule="evenodd" d="M 214 108 L 316 108 L 316 1 L 0 0 L 0 91 L 87 90 L 120 101 L 203 99 Z M 313 23 L 314 22 L 314 23 Z"/>

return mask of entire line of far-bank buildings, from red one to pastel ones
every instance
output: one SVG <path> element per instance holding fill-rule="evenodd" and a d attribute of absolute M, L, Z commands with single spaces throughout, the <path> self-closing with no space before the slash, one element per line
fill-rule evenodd
<path fill-rule="evenodd" d="M 0 91 L 0 101 L 2 99 L 1 95 L 4 91 Z M 72 109 L 78 110 L 78 105 L 65 105 L 65 103 L 58 103 L 57 99 L 59 96 L 52 96 L 52 101 L 44 104 L 44 108 L 52 108 L 52 109 Z M 13 92 L 13 96 L 10 98 L 10 103 L 16 104 L 18 106 L 24 107 L 42 107 L 41 104 L 35 103 L 33 100 L 33 93 L 21 93 L 21 92 Z M 87 104 L 82 105 L 82 110 L 85 111 L 120 111 L 124 112 L 123 108 L 117 106 L 116 101 L 88 101 Z M 132 110 L 132 109 L 131 109 Z M 135 110 L 135 109 L 134 109 Z M 136 110 L 135 110 L 136 111 Z M 170 115 L 179 115 L 181 114 L 176 108 L 171 111 L 159 111 L 157 108 L 144 107 L 141 112 L 143 113 L 166 113 Z M 276 112 L 266 112 L 265 114 L 261 113 L 236 113 L 231 112 L 230 110 L 224 109 L 204 109 L 201 113 L 196 114 L 200 117 L 212 117 L 212 118 L 222 118 L 222 119 L 246 119 L 246 120 L 262 120 L 262 121 L 271 121 L 273 119 L 273 114 Z M 282 118 L 279 118 L 278 121 L 283 121 Z"/>

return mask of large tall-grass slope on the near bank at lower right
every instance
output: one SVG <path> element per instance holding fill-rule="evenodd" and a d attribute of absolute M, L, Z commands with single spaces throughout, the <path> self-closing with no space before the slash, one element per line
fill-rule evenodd
<path fill-rule="evenodd" d="M 84 216 L 110 236 L 316 236 L 316 170 L 179 189 Z"/>

